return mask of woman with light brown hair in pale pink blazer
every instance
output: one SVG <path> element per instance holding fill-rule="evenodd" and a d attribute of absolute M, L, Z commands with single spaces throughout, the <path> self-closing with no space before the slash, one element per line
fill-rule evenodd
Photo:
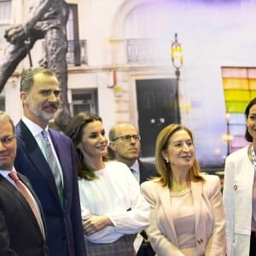
<path fill-rule="evenodd" d="M 142 184 L 150 204 L 146 229 L 156 255 L 224 256 L 225 219 L 219 178 L 202 176 L 191 131 L 168 125 L 157 137 L 160 177 Z"/>

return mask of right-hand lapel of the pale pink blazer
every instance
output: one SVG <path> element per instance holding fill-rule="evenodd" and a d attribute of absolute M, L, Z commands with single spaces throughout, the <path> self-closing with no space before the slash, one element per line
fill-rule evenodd
<path fill-rule="evenodd" d="M 195 207 L 195 230 L 200 222 L 201 201 L 202 201 L 202 183 L 191 182 L 191 191 Z"/>

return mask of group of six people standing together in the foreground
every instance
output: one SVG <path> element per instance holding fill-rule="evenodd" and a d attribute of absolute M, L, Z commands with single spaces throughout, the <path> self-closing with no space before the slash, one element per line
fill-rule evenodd
<path fill-rule="evenodd" d="M 223 194 L 218 176 L 201 174 L 186 126 L 160 131 L 153 164 L 134 125 L 107 137 L 101 117 L 80 112 L 65 131 L 49 128 L 60 86 L 44 67 L 22 74 L 20 100 L 17 125 L 0 111 L 0 255 L 256 255 L 256 98 Z"/>

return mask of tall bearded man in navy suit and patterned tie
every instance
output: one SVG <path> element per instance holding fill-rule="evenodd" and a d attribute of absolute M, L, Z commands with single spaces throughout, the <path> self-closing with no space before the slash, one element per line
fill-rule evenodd
<path fill-rule="evenodd" d="M 15 127 L 15 168 L 28 177 L 44 209 L 51 256 L 84 256 L 84 236 L 73 143 L 48 129 L 60 104 L 55 74 L 29 68 L 20 81 L 24 115 Z"/>

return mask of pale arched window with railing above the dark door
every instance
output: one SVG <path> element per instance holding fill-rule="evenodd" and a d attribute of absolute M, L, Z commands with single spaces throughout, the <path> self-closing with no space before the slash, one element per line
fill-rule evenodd
<path fill-rule="evenodd" d="M 129 64 L 172 64 L 170 9 L 168 1 L 144 1 L 125 17 L 123 33 Z"/>

